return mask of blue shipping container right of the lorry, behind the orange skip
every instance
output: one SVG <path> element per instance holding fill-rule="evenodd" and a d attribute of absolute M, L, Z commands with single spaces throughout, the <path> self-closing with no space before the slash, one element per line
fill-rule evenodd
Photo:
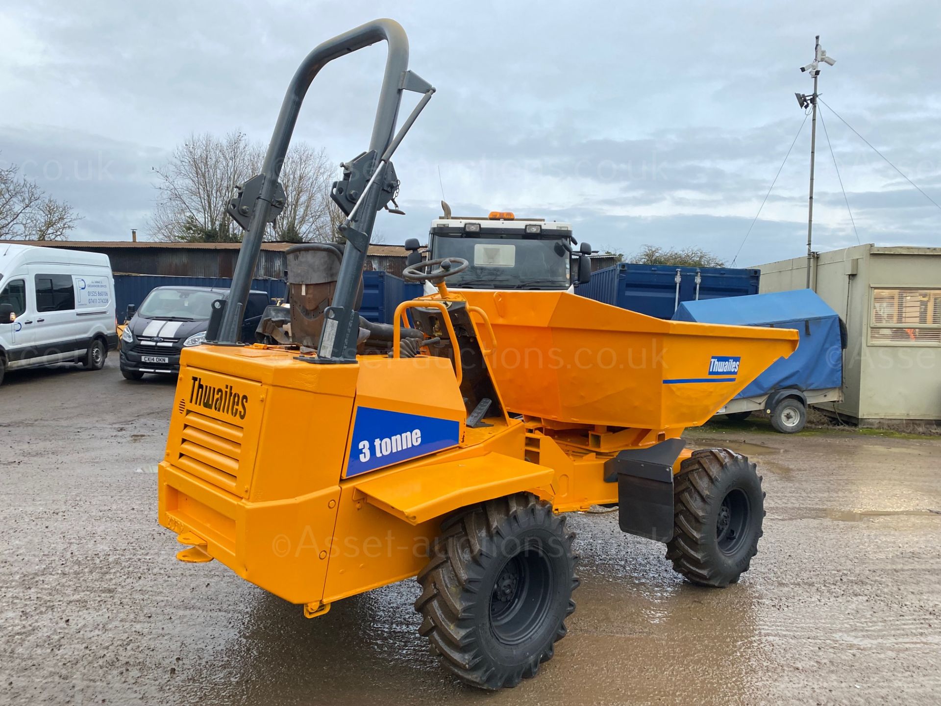
<path fill-rule="evenodd" d="M 619 263 L 593 272 L 591 281 L 578 285 L 575 293 L 621 309 L 668 319 L 676 311 L 677 298 L 681 303 L 758 294 L 760 275 L 758 269 Z"/>

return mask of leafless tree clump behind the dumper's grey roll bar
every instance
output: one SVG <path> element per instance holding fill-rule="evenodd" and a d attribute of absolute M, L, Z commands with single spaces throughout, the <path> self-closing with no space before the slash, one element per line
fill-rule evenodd
<path fill-rule="evenodd" d="M 159 198 L 151 220 L 158 240 L 241 240 L 241 228 L 225 213 L 233 185 L 261 171 L 264 147 L 241 133 L 223 138 L 190 136 L 163 168 L 154 169 Z M 324 242 L 336 239 L 336 207 L 329 198 L 334 169 L 323 150 L 295 142 L 280 172 L 287 201 L 266 240 Z"/>

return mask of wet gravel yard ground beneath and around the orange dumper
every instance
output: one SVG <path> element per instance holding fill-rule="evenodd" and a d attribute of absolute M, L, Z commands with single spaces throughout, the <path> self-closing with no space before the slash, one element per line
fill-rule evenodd
<path fill-rule="evenodd" d="M 313 620 L 156 523 L 171 382 L 71 366 L 0 387 L 0 703 L 901 703 L 941 700 L 941 441 L 694 430 L 758 461 L 752 570 L 684 584 L 616 513 L 577 515 L 555 658 L 487 695 L 418 637 L 414 582 Z M 710 438 L 711 437 L 711 438 Z"/>

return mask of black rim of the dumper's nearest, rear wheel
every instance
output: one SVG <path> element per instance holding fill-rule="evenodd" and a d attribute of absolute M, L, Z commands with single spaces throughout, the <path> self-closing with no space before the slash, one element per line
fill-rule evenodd
<path fill-rule="evenodd" d="M 548 557 L 537 549 L 506 560 L 490 596 L 490 626 L 500 642 L 518 645 L 539 632 L 550 615 L 552 577 Z"/>

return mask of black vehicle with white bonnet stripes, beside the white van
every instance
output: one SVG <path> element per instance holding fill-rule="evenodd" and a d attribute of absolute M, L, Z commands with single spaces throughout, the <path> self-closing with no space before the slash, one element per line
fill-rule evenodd
<path fill-rule="evenodd" d="M 121 375 L 129 380 L 139 380 L 145 373 L 177 375 L 183 348 L 205 343 L 213 302 L 226 297 L 228 289 L 213 287 L 153 289 L 121 335 Z M 241 341 L 255 341 L 255 329 L 269 303 L 266 292 L 248 294 Z"/>

